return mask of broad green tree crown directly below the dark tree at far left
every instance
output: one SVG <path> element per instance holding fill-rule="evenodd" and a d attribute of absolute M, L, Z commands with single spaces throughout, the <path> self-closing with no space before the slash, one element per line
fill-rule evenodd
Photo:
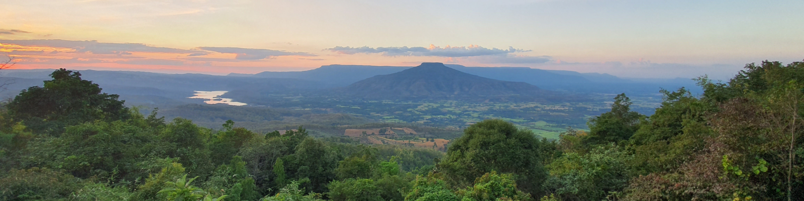
<path fill-rule="evenodd" d="M 154 149 L 158 141 L 154 132 L 126 121 L 69 126 L 59 137 L 29 143 L 22 154 L 22 165 L 67 170 L 80 178 L 117 174 L 133 180 L 147 176 L 129 174 L 137 171 L 132 165 Z"/>

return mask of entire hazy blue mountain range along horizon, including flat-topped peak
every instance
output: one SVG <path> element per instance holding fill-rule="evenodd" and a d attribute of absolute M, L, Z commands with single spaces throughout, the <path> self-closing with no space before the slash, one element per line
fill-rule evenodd
<path fill-rule="evenodd" d="M 422 67 L 434 64 L 426 64 Z M 0 90 L 0 98 L 10 98 L 19 90 L 41 86 L 53 69 L 2 70 L 0 82 L 14 82 Z M 631 96 L 656 94 L 659 89 L 694 87 L 686 79 L 627 80 L 600 73 L 551 71 L 535 68 L 481 68 L 439 64 L 438 68 L 327 65 L 301 72 L 260 72 L 257 74 L 165 74 L 154 72 L 81 70 L 104 92 L 120 94 L 133 105 L 184 105 L 202 103 L 188 99 L 194 91 L 229 91 L 223 97 L 246 100 L 257 105 L 275 105 L 274 94 L 293 96 L 353 96 L 361 98 L 460 97 L 516 94 L 542 98 L 572 98 L 589 93 Z M 396 74 L 399 73 L 399 74 Z M 387 75 L 387 76 L 383 76 Z M 325 90 L 320 90 L 325 89 Z M 554 91 L 554 92 L 548 92 Z M 695 91 L 693 91 L 695 92 Z M 561 95 L 559 95 L 561 94 Z M 283 95 L 283 96 L 285 96 Z M 270 97 L 269 96 L 273 96 Z"/>

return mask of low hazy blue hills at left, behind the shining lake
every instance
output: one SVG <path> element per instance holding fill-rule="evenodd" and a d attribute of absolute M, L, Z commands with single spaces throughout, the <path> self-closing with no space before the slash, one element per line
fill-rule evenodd
<path fill-rule="evenodd" d="M 2 83 L 12 83 L 0 91 L 0 98 L 13 97 L 20 90 L 42 86 L 43 80 L 51 80 L 53 69 L 3 70 Z M 265 79 L 260 77 L 211 76 L 204 74 L 166 74 L 155 72 L 76 70 L 84 80 L 100 84 L 103 92 L 114 93 L 126 100 L 127 105 L 183 105 L 201 103 L 188 99 L 194 91 L 289 92 L 322 88 L 312 80 Z"/>

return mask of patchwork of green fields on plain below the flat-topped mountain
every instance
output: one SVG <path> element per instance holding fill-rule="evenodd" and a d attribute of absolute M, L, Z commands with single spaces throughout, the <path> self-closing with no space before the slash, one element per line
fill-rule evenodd
<path fill-rule="evenodd" d="M 502 119 L 519 128 L 550 139 L 557 139 L 568 128 L 588 129 L 586 121 L 609 110 L 616 94 L 593 94 L 583 102 L 473 102 L 461 100 L 362 100 L 335 96 L 273 94 L 259 105 L 311 113 L 348 113 L 396 125 L 427 125 L 464 129 L 484 119 Z M 634 111 L 652 113 L 661 96 L 632 96 Z M 348 122 L 344 122 L 348 123 Z M 372 128 L 372 129 L 379 129 Z M 374 133 L 378 133 L 375 130 Z M 367 132 L 372 133 L 372 132 Z M 352 135 L 356 135 L 353 133 Z"/>

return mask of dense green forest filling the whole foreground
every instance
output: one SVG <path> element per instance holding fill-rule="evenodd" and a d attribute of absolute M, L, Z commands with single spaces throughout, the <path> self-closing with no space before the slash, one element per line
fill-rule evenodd
<path fill-rule="evenodd" d="M 51 77 L 2 104 L 2 200 L 804 200 L 802 62 L 662 90 L 650 117 L 621 94 L 556 141 L 486 119 L 445 153 L 207 129 Z"/>

